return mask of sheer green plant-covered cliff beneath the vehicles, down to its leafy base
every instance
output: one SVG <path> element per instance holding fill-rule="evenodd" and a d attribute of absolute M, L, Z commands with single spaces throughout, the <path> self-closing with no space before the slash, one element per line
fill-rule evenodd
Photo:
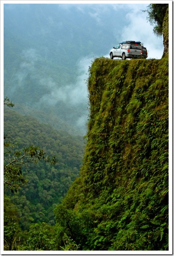
<path fill-rule="evenodd" d="M 83 167 L 55 211 L 81 250 L 168 250 L 168 65 L 91 65 Z"/>

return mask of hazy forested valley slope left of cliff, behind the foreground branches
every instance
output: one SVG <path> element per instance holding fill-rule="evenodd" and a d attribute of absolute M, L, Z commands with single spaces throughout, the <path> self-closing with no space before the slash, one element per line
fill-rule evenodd
<path fill-rule="evenodd" d="M 4 107 L 4 133 L 13 138 L 13 151 L 34 145 L 48 155 L 57 156 L 56 166 L 44 162 L 24 166 L 22 173 L 28 183 L 15 194 L 5 191 L 18 208 L 22 230 L 28 230 L 30 223 L 53 224 L 53 208 L 61 203 L 79 176 L 85 146 L 83 137 L 71 136 L 63 129 L 54 129 L 7 107 Z"/>

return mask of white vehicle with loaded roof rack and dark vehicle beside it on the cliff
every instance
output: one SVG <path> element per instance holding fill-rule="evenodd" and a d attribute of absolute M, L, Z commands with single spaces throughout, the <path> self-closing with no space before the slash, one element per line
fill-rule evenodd
<path fill-rule="evenodd" d="M 110 50 L 110 58 L 120 57 L 122 60 L 126 58 L 147 58 L 147 49 L 140 41 L 123 41 Z"/>

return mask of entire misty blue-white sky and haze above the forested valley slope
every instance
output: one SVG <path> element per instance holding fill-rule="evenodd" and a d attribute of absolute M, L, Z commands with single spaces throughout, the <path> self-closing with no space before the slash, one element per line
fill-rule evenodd
<path fill-rule="evenodd" d="M 109 58 L 122 40 L 140 40 L 148 58 L 162 57 L 163 39 L 142 12 L 147 5 L 4 4 L 4 97 L 22 114 L 43 122 L 47 115 L 47 123 L 85 135 L 94 59 Z"/>

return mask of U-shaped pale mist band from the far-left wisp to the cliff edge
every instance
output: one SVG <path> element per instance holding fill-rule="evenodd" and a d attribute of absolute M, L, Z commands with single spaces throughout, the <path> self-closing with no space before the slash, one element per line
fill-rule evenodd
<path fill-rule="evenodd" d="M 91 57 L 83 57 L 77 61 L 77 79 L 74 84 L 60 86 L 51 76 L 42 75 L 36 72 L 36 66 L 40 62 L 41 56 L 35 49 L 23 50 L 21 53 L 22 62 L 15 74 L 14 90 L 23 87 L 27 76 L 36 81 L 38 88 L 46 88 L 46 93 L 40 97 L 39 102 L 35 102 L 37 107 L 43 104 L 56 106 L 62 102 L 72 107 L 86 106 L 88 101 L 87 91 L 87 71 L 91 64 Z"/>

